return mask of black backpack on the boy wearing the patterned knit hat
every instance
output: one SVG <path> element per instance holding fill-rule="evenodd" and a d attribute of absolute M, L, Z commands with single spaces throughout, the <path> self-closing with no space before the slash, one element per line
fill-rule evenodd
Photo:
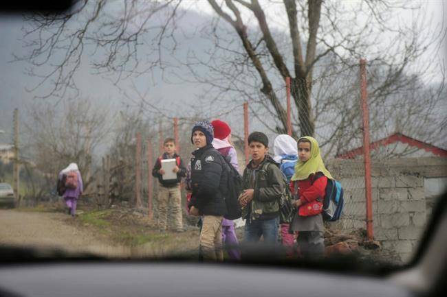
<path fill-rule="evenodd" d="M 223 185 L 223 199 L 225 200 L 227 214 L 226 219 L 239 219 L 242 216 L 239 195 L 242 193 L 242 177 L 231 163 L 221 154 L 222 170 L 227 172 L 227 182 Z"/>

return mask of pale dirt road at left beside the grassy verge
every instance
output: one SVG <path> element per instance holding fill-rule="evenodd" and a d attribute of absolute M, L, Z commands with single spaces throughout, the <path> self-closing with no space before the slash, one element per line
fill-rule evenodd
<path fill-rule="evenodd" d="M 63 213 L 21 212 L 0 209 L 0 245 L 63 248 L 69 252 L 93 252 L 123 256 L 129 250 L 99 239 L 89 230 L 67 224 Z"/>

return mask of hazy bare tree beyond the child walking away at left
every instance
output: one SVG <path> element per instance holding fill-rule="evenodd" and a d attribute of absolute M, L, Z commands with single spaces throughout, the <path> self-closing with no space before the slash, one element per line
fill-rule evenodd
<path fill-rule="evenodd" d="M 58 172 L 69 163 L 77 163 L 87 191 L 93 180 L 94 150 L 104 144 L 111 128 L 109 112 L 93 107 L 87 99 L 69 99 L 58 106 L 39 102 L 29 115 L 25 150 L 45 175 L 47 185 L 55 185 Z"/>

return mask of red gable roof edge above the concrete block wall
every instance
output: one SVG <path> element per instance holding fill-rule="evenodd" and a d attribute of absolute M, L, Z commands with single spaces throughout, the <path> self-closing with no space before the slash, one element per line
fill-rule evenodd
<path fill-rule="evenodd" d="M 371 150 L 375 150 L 378 147 L 390 145 L 391 143 L 397 143 L 397 142 L 406 143 L 408 145 L 418 147 L 421 150 L 425 150 L 426 152 L 430 152 L 437 156 L 443 156 L 443 157 L 447 156 L 447 150 L 443 150 L 440 147 L 435 147 L 435 145 L 430 145 L 429 143 L 425 143 L 423 141 L 413 139 L 413 138 L 406 136 L 400 132 L 392 134 L 391 136 L 388 136 L 384 139 L 374 141 L 369 145 L 369 147 L 371 148 Z M 357 147 L 356 149 L 350 150 L 348 152 L 338 154 L 336 156 L 336 158 L 350 159 L 350 158 L 355 158 L 356 156 L 359 156 L 362 154 L 363 154 L 363 147 Z"/>

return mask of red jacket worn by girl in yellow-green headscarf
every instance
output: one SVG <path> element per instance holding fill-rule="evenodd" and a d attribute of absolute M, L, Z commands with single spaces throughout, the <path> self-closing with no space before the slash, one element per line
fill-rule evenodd
<path fill-rule="evenodd" d="M 296 193 L 296 185 L 298 185 L 298 193 Z M 311 174 L 305 180 L 296 180 L 290 182 L 290 191 L 295 197 L 301 199 L 303 205 L 298 209 L 298 214 L 305 217 L 309 215 L 318 215 L 323 209 L 323 199 L 326 195 L 327 177 L 321 176 L 315 179 L 315 175 Z M 320 198 L 320 201 L 316 199 Z"/>

